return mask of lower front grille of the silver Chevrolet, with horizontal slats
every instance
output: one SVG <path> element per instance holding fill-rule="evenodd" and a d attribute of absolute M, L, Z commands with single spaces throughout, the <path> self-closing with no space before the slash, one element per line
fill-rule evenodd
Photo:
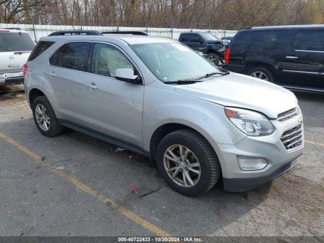
<path fill-rule="evenodd" d="M 303 143 L 303 126 L 302 124 L 284 132 L 280 138 L 287 150 L 299 147 Z"/>

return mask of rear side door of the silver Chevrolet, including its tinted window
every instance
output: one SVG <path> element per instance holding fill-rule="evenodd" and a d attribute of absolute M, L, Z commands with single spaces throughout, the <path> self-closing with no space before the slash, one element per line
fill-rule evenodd
<path fill-rule="evenodd" d="M 86 123 L 83 89 L 90 46 L 91 42 L 64 44 L 43 69 L 48 84 L 55 91 L 59 117 L 79 125 Z"/>

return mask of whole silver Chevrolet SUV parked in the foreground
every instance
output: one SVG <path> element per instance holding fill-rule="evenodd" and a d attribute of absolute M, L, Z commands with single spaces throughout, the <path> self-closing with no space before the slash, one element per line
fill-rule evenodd
<path fill-rule="evenodd" d="M 23 67 L 38 130 L 64 127 L 156 161 L 174 190 L 256 188 L 293 168 L 304 147 L 295 95 L 218 68 L 169 38 L 41 38 Z"/>

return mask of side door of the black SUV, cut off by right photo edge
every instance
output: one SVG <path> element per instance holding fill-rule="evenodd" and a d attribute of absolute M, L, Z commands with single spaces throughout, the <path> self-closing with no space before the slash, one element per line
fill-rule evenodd
<path fill-rule="evenodd" d="M 324 31 L 322 29 L 295 30 L 291 44 L 282 61 L 280 83 L 287 86 L 324 88 Z"/>

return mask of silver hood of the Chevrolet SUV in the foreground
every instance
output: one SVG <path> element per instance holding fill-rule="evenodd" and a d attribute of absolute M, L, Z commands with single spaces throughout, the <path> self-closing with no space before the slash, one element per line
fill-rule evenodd
<path fill-rule="evenodd" d="M 256 110 L 269 118 L 277 118 L 279 113 L 297 106 L 297 98 L 289 90 L 232 72 L 195 84 L 178 85 L 175 91 L 223 106 Z"/>

